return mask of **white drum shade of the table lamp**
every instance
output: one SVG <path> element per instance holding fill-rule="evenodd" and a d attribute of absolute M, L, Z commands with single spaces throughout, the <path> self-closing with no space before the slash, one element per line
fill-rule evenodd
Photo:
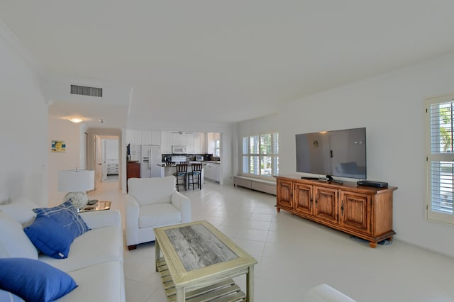
<path fill-rule="evenodd" d="M 58 191 L 79 192 L 94 189 L 94 170 L 61 170 L 58 172 Z"/>

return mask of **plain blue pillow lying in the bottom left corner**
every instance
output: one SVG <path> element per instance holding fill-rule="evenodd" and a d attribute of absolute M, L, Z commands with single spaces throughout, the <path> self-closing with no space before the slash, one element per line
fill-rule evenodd
<path fill-rule="evenodd" d="M 25 301 L 54 301 L 77 287 L 69 274 L 39 260 L 1 258 L 0 267 L 0 289 Z"/>

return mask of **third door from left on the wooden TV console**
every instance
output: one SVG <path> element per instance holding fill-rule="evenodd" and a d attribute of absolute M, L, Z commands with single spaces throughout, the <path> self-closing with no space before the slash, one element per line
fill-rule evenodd
<path fill-rule="evenodd" d="M 314 216 L 338 223 L 338 190 L 314 186 Z"/>

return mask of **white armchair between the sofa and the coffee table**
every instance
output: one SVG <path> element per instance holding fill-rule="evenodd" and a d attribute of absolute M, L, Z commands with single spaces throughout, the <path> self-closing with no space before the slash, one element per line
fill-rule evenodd
<path fill-rule="evenodd" d="M 126 245 L 155 240 L 153 228 L 191 221 L 191 201 L 175 190 L 175 177 L 128 179 L 126 196 Z"/>

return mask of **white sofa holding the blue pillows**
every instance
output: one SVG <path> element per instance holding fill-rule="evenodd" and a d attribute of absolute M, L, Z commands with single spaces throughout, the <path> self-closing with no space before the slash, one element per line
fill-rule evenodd
<path fill-rule="evenodd" d="M 0 206 L 0 258 L 38 259 L 69 274 L 77 288 L 56 301 L 124 302 L 120 212 L 109 210 L 79 213 L 91 230 L 74 239 L 67 258 L 54 259 L 38 253 L 23 231 L 24 227 L 33 222 L 34 213 L 31 208 L 36 207 L 38 206 L 34 203 L 23 200 Z"/>

